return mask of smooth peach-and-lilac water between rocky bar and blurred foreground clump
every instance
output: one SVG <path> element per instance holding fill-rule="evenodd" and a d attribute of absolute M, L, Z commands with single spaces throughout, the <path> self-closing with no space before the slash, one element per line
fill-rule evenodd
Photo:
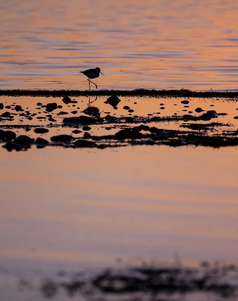
<path fill-rule="evenodd" d="M 31 299 L 19 278 L 117 258 L 238 261 L 237 147 L 0 152 L 5 300 Z"/>

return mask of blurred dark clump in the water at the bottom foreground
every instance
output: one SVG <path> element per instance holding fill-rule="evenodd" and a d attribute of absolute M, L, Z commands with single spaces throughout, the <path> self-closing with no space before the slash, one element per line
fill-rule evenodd
<path fill-rule="evenodd" d="M 189 296 L 194 299 L 192 296 L 198 292 L 204 293 L 203 297 L 211 301 L 236 300 L 238 297 L 238 270 L 235 265 L 211 266 L 202 262 L 198 268 L 138 266 L 119 270 L 108 268 L 90 277 L 78 273 L 72 278 L 62 279 L 64 275 L 60 274 L 57 280 L 43 280 L 40 290 L 45 298 L 54 298 L 62 292 L 69 297 L 83 295 L 86 299 L 93 297 L 95 300 L 106 296 L 115 300 L 126 296 L 127 300 L 133 300 L 135 293 L 140 300 L 149 297 L 156 301 L 175 300 L 173 297 L 178 295 L 186 300 Z"/>

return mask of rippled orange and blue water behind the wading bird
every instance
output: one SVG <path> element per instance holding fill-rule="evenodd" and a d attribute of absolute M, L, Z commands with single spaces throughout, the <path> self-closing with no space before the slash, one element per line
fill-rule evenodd
<path fill-rule="evenodd" d="M 236 0 L 2 1 L 0 88 L 237 89 Z"/>

